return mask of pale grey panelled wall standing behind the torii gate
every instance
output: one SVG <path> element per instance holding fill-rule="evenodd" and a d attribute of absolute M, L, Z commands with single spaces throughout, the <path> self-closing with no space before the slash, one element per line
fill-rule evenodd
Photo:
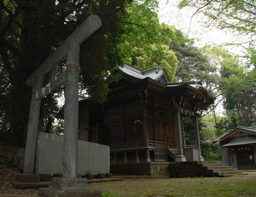
<path fill-rule="evenodd" d="M 38 133 L 36 174 L 62 174 L 63 137 Z M 78 174 L 109 173 L 109 146 L 78 140 Z"/>

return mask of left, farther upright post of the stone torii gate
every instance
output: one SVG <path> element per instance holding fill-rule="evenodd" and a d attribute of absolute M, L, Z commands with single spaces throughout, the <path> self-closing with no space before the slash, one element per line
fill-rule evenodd
<path fill-rule="evenodd" d="M 34 82 L 28 121 L 28 134 L 26 139 L 26 149 L 24 157 L 23 174 L 34 173 L 34 163 L 36 154 L 36 141 L 38 133 L 38 122 L 40 114 L 41 99 L 36 99 L 36 91 L 43 86 L 43 77 L 38 77 Z"/>

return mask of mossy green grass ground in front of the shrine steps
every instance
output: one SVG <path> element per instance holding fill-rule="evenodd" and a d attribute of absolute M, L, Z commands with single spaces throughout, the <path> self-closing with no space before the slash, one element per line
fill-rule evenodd
<path fill-rule="evenodd" d="M 138 179 L 92 183 L 106 197 L 256 197 L 255 176 Z"/>

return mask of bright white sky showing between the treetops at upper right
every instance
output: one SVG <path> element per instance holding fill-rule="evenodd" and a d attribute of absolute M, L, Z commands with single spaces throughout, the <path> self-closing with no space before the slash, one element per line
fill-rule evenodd
<path fill-rule="evenodd" d="M 195 46 L 222 45 L 225 42 L 234 42 L 237 36 L 214 27 L 205 27 L 201 21 L 206 21 L 204 15 L 195 15 L 196 9 L 178 9 L 180 0 L 160 0 L 158 16 L 159 21 L 168 25 L 174 25 L 176 29 L 195 39 Z M 236 46 L 225 47 L 230 53 L 242 55 L 242 48 Z"/>

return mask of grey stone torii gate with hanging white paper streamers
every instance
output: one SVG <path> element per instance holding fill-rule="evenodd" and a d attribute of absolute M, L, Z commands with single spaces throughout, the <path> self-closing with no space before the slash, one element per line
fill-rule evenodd
<path fill-rule="evenodd" d="M 34 173 L 41 99 L 63 84 L 66 84 L 63 178 L 54 178 L 52 180 L 52 188 L 56 190 L 79 190 L 86 188 L 86 179 L 77 178 L 79 56 L 81 43 L 97 31 L 100 26 L 100 18 L 97 15 L 90 15 L 26 80 L 28 86 L 33 86 L 33 91 L 29 111 L 23 178 L 26 177 L 26 175 L 33 176 Z M 64 57 L 66 57 L 66 70 L 56 76 L 57 64 L 61 62 Z M 49 72 L 50 82 L 43 87 L 43 79 Z M 55 193 L 52 191 L 43 192 L 43 195 L 55 196 L 56 191 Z"/>

